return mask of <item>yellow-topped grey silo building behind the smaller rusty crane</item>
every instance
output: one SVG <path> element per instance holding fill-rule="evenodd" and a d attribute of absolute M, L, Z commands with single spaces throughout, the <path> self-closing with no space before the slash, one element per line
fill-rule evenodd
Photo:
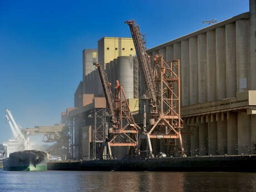
<path fill-rule="evenodd" d="M 105 139 L 106 100 L 99 72 L 93 66 L 104 66 L 112 92 L 116 80 L 124 88 L 131 111 L 139 111 L 139 71 L 132 38 L 103 37 L 98 41 L 98 50 L 83 50 L 83 80 L 79 83 L 74 98 L 74 107 L 62 112 L 62 123 L 70 130 L 70 158 L 97 158 Z M 114 150 L 121 157 L 125 151 Z"/>

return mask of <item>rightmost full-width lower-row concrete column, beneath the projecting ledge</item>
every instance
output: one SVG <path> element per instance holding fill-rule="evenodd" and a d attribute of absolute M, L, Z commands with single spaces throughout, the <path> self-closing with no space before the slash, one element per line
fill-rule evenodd
<path fill-rule="evenodd" d="M 237 118 L 238 130 L 238 154 L 250 154 L 250 116 L 246 112 L 239 111 Z"/>

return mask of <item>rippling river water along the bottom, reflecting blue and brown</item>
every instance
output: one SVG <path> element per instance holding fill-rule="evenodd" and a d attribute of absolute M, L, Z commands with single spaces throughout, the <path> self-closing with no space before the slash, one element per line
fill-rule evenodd
<path fill-rule="evenodd" d="M 0 191 L 256 191 L 256 173 L 0 170 Z"/>

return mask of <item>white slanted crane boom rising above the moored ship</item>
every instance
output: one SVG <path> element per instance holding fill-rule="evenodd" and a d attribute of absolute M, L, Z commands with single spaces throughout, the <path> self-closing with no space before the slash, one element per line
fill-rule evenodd
<path fill-rule="evenodd" d="M 28 141 L 25 139 L 24 135 L 22 134 L 21 130 L 16 124 L 16 121 L 13 119 L 11 111 L 9 109 L 6 109 L 6 112 L 7 112 L 6 120 L 9 122 L 14 139 L 16 139 L 19 143 L 21 143 L 23 150 L 27 150 Z"/>

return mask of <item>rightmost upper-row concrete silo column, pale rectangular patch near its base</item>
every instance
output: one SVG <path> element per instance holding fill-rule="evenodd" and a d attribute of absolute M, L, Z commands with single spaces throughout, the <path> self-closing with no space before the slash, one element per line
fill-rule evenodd
<path fill-rule="evenodd" d="M 240 19 L 235 22 L 237 48 L 237 92 L 248 90 L 249 70 L 249 21 Z"/>

